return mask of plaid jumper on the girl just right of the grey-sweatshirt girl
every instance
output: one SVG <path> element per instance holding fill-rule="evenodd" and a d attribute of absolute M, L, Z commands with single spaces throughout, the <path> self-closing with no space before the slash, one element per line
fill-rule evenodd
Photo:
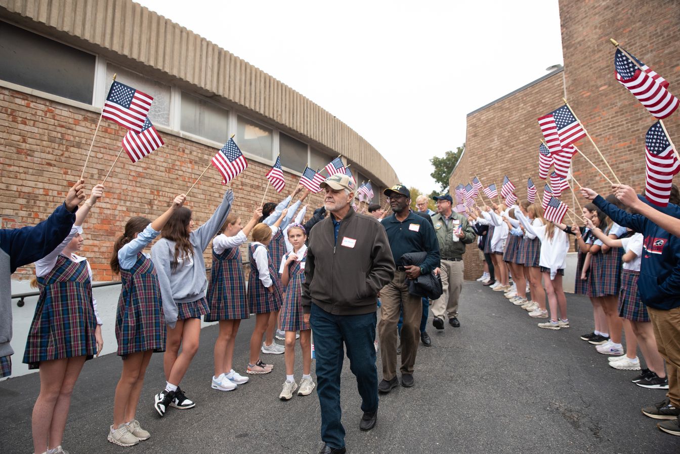
<path fill-rule="evenodd" d="M 245 278 L 239 248 L 222 254 L 213 251 L 213 265 L 207 294 L 210 312 L 204 321 L 242 320 L 250 317 L 245 301 Z"/>

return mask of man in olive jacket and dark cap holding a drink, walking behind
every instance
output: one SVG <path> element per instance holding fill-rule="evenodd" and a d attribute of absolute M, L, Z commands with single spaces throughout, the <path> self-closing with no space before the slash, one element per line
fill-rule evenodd
<path fill-rule="evenodd" d="M 444 293 L 432 302 L 432 325 L 444 329 L 444 316 L 449 325 L 460 326 L 458 321 L 458 297 L 463 287 L 463 254 L 465 245 L 475 241 L 477 236 L 465 216 L 452 210 L 454 201 L 449 194 L 432 197 L 437 201 L 439 212 L 432 216 L 435 235 L 439 241 L 441 266 L 439 274 Z M 455 239 L 454 239 L 455 237 Z"/>

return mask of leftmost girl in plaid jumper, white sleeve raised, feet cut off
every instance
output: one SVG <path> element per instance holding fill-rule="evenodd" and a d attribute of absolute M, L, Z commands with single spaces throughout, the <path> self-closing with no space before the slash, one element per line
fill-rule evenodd
<path fill-rule="evenodd" d="M 35 453 L 61 451 L 75 382 L 86 359 L 99 355 L 104 345 L 97 301 L 92 298 L 92 270 L 85 257 L 75 254 L 83 244 L 82 224 L 103 190 L 101 184 L 92 188 L 69 235 L 35 262 L 40 296 L 24 351 L 24 363 L 40 370 L 32 419 Z"/>

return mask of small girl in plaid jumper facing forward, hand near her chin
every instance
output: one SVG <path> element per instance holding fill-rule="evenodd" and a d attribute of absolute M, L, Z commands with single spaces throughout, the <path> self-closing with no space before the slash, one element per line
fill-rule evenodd
<path fill-rule="evenodd" d="M 305 263 L 307 261 L 307 232 L 300 224 L 293 224 L 288 228 L 288 240 L 293 250 L 284 255 L 279 267 L 281 284 L 288 289 L 284 297 L 284 306 L 279 314 L 279 326 L 286 331 L 286 382 L 279 395 L 279 399 L 289 400 L 297 389 L 293 368 L 295 365 L 295 335 L 300 331 L 300 346 L 302 347 L 303 375 L 298 395 L 309 395 L 315 385 L 311 379 L 311 326 L 303 320 L 303 310 L 300 304 L 302 283 L 305 282 Z"/>

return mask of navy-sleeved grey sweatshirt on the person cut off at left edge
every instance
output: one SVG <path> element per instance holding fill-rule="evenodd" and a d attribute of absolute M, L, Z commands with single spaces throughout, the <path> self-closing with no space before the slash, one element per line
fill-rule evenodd
<path fill-rule="evenodd" d="M 0 357 L 12 355 L 12 285 L 10 276 L 52 252 L 71 231 L 75 214 L 59 206 L 34 227 L 0 229 Z"/>

